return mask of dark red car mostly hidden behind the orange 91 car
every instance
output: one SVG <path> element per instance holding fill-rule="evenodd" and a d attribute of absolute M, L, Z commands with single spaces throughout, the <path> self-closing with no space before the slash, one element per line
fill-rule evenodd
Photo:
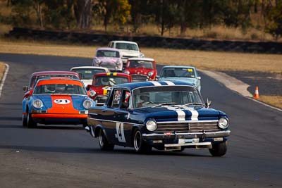
<path fill-rule="evenodd" d="M 35 72 L 35 73 L 32 73 L 28 86 L 23 87 L 23 91 L 25 91 L 25 95 L 23 96 L 23 98 L 27 98 L 28 96 L 30 96 L 30 92 L 29 92 L 30 89 L 33 89 L 35 87 L 35 84 L 39 79 L 48 78 L 48 77 L 69 77 L 69 78 L 80 79 L 78 73 L 74 73 L 71 71 Z"/>

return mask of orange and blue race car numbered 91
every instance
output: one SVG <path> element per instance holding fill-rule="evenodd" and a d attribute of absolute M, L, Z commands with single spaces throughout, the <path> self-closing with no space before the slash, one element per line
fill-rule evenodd
<path fill-rule="evenodd" d="M 37 123 L 87 125 L 88 108 L 95 102 L 87 96 L 80 80 L 49 78 L 39 80 L 30 96 L 23 100 L 23 126 Z"/>

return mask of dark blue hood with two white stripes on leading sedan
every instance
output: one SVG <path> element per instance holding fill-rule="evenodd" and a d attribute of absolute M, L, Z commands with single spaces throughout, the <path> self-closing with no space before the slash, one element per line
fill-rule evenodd
<path fill-rule="evenodd" d="M 154 119 L 157 122 L 184 121 L 184 120 L 219 120 L 221 111 L 202 106 L 159 106 L 135 109 L 137 113 L 146 115 L 145 119 Z"/>

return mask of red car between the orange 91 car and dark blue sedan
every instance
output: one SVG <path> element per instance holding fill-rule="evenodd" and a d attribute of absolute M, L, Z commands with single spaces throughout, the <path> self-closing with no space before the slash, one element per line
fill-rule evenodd
<path fill-rule="evenodd" d="M 132 78 L 125 73 L 97 73 L 93 76 L 92 84 L 87 85 L 87 90 L 90 91 L 91 99 L 101 106 L 105 103 L 111 87 L 128 82 L 132 82 Z"/>

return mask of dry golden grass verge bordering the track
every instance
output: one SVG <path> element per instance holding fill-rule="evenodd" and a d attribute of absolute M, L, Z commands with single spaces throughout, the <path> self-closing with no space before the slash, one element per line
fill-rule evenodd
<path fill-rule="evenodd" d="M 50 42 L 8 41 L 0 39 L 0 53 L 38 54 L 93 58 L 99 46 L 78 46 Z M 216 51 L 192 51 L 183 49 L 142 48 L 147 57 L 164 65 L 193 65 L 204 70 L 261 71 L 282 73 L 282 55 L 241 54 Z M 91 64 L 91 62 L 90 62 Z M 1 70 L 0 70 L 1 74 Z M 1 75 L 0 75 L 1 77 Z M 282 96 L 261 96 L 259 99 L 282 109 Z"/>

